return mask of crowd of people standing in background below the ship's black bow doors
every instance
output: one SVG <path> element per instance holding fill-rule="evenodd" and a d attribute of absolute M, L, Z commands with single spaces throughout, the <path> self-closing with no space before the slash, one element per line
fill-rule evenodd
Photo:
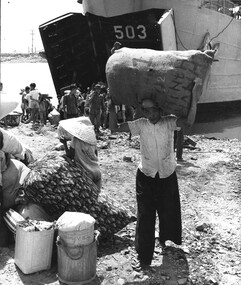
<path fill-rule="evenodd" d="M 109 127 L 111 99 L 105 83 L 93 84 L 92 87 L 88 87 L 86 90 L 82 90 L 77 84 L 71 84 L 61 91 L 62 96 L 59 98 L 57 106 L 60 120 L 88 116 L 97 137 L 101 134 L 100 128 L 106 129 Z M 40 125 L 45 125 L 48 114 L 54 108 L 50 101 L 52 97 L 41 94 L 35 83 L 26 86 L 20 94 L 22 96 L 22 122 L 32 122 L 33 127 L 38 125 L 39 122 Z M 129 105 L 116 105 L 115 113 L 118 123 L 132 121 L 141 116 L 133 106 Z M 131 133 L 129 139 L 131 139 Z M 175 131 L 174 140 L 177 159 L 181 161 L 184 141 L 182 129 L 179 128 Z"/>

